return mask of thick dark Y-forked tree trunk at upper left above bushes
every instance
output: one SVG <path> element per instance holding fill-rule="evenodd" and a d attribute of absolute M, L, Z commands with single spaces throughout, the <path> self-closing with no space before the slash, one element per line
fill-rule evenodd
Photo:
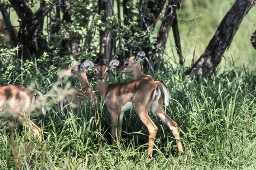
<path fill-rule="evenodd" d="M 45 6 L 40 6 L 38 11 L 33 14 L 30 6 L 24 0 L 9 0 L 9 2 L 19 17 L 20 29 L 17 43 L 25 46 L 23 48 L 23 60 L 30 59 L 32 54 L 38 58 L 46 48 L 47 42 L 39 37 L 36 31 L 49 10 L 45 9 Z"/>

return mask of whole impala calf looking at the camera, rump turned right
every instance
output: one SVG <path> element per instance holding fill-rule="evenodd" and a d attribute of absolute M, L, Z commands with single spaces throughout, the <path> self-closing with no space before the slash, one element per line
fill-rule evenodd
<path fill-rule="evenodd" d="M 166 113 L 158 113 L 158 102 L 161 91 L 158 88 L 160 85 L 165 94 L 165 104 L 169 105 L 169 90 L 160 81 L 148 81 L 146 79 L 137 79 L 131 82 L 119 82 L 115 84 L 108 84 L 106 82 L 106 76 L 111 68 L 116 68 L 119 65 L 119 61 L 116 59 L 111 60 L 109 65 L 104 63 L 94 64 L 92 61 L 87 60 L 84 62 L 85 67 L 88 69 L 94 69 L 97 74 L 96 89 L 105 101 L 105 105 L 111 114 L 111 136 L 115 136 L 115 126 L 117 123 L 117 137 L 120 141 L 122 133 L 122 121 L 126 110 L 134 108 L 138 114 L 140 120 L 147 127 L 148 137 L 148 156 L 152 157 L 152 151 L 154 146 L 155 136 L 157 134 L 157 126 L 148 116 L 148 109 L 154 114 L 159 115 L 162 119 L 166 119 Z M 177 130 L 177 124 L 174 125 L 172 119 L 165 120 L 167 125 L 171 128 L 175 138 L 179 139 L 179 132 Z M 114 139 L 112 138 L 112 144 Z M 178 142 L 178 150 L 183 152 L 181 143 Z"/>

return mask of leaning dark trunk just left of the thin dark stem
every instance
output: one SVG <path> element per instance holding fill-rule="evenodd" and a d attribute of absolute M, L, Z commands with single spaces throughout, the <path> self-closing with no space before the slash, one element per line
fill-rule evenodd
<path fill-rule="evenodd" d="M 165 50 L 166 41 L 170 28 L 176 16 L 176 10 L 180 5 L 180 0 L 169 0 L 166 6 L 165 20 L 163 20 L 160 30 L 157 34 L 156 57 L 158 61 L 163 61 L 163 52 Z"/>

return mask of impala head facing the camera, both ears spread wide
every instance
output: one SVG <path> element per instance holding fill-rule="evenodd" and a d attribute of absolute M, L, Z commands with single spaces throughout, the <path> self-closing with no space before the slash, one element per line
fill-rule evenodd
<path fill-rule="evenodd" d="M 87 60 L 84 62 L 84 65 L 87 69 L 94 69 L 95 74 L 97 74 L 98 81 L 104 82 L 106 76 L 111 68 L 116 68 L 119 65 L 117 59 L 112 59 L 108 65 L 104 63 L 94 64 L 92 61 Z"/>

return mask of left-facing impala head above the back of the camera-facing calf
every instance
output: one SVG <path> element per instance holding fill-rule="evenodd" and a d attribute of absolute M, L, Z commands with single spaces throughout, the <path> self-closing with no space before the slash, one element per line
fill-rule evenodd
<path fill-rule="evenodd" d="M 122 74 L 122 73 L 133 72 L 136 66 L 139 64 L 140 60 L 144 59 L 145 57 L 146 55 L 144 51 L 138 52 L 136 57 L 135 56 L 127 57 L 125 59 L 125 64 L 118 69 L 118 73 Z"/>

